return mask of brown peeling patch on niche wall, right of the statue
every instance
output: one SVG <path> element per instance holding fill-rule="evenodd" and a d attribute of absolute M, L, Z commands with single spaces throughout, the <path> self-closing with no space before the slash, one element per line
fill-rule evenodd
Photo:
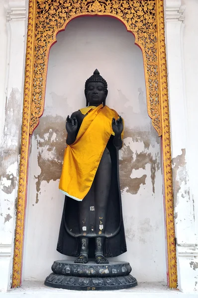
<path fill-rule="evenodd" d="M 159 152 L 155 154 L 153 158 L 152 154 L 148 152 L 150 146 L 154 146 L 153 137 L 148 132 L 133 132 L 129 128 L 125 128 L 124 138 L 130 137 L 134 142 L 143 142 L 145 149 L 140 153 L 135 153 L 136 158 L 133 160 L 133 151 L 129 146 L 124 147 L 123 156 L 119 160 L 119 169 L 120 169 L 120 188 L 123 191 L 126 189 L 126 192 L 131 194 L 137 194 L 140 185 L 145 184 L 145 179 L 147 175 L 143 175 L 140 178 L 131 178 L 131 172 L 133 169 L 145 169 L 146 164 L 149 163 L 151 167 L 151 181 L 153 186 L 153 193 L 155 193 L 155 178 L 156 171 L 160 169 L 160 156 Z M 159 142 L 159 139 L 156 139 L 156 143 Z"/>

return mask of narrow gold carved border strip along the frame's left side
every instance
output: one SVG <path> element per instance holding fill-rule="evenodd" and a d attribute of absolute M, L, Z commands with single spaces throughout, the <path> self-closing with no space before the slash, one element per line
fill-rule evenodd
<path fill-rule="evenodd" d="M 21 151 L 20 151 L 20 168 L 18 180 L 18 198 L 16 208 L 16 228 L 14 239 L 14 256 L 12 270 L 12 287 L 20 286 L 22 271 L 22 249 L 23 249 L 23 231 L 25 218 L 25 203 L 27 191 L 27 166 L 29 152 L 29 129 L 32 101 L 32 81 L 34 70 L 34 36 L 35 36 L 35 17 L 36 5 L 34 0 L 29 0 L 28 14 L 28 33 L 26 44 L 25 60 L 25 82 L 24 82 L 24 99 L 23 99 L 23 118 L 21 131 Z"/>

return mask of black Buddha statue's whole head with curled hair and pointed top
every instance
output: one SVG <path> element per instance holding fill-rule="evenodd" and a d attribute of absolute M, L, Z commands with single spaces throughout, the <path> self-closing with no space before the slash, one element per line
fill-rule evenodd
<path fill-rule="evenodd" d="M 107 93 L 107 82 L 96 70 L 85 83 L 86 106 L 98 106 L 101 103 L 105 106 Z"/>

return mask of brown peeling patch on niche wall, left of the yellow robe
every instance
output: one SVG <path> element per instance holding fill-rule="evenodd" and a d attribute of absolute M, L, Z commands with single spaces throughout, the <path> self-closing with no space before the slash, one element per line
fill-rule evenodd
<path fill-rule="evenodd" d="M 38 149 L 38 165 L 41 169 L 41 173 L 35 177 L 37 179 L 36 204 L 39 201 L 41 182 L 47 181 L 49 183 L 50 180 L 56 181 L 61 177 L 64 150 L 66 148 L 65 122 L 66 119 L 61 116 L 43 116 L 40 118 L 40 123 L 34 131 Z M 51 141 L 54 133 L 56 134 L 55 141 Z M 46 138 L 45 134 L 49 134 L 49 136 Z M 44 158 L 45 150 L 53 152 L 53 157 L 49 159 Z"/>

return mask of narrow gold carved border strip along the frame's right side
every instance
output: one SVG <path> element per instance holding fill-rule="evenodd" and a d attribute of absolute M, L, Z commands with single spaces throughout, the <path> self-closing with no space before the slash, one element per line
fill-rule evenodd
<path fill-rule="evenodd" d="M 171 158 L 171 133 L 169 121 L 169 99 L 166 65 L 166 46 L 164 33 L 164 4 L 157 1 L 157 54 L 158 54 L 158 81 L 162 119 L 162 147 L 164 168 L 164 194 L 166 208 L 166 233 L 168 254 L 168 281 L 170 288 L 177 288 L 177 258 L 174 226 L 174 202 Z"/>

